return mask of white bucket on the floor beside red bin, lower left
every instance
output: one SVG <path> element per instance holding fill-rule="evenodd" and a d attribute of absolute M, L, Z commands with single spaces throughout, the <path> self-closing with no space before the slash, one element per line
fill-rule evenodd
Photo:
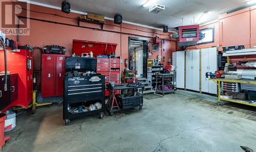
<path fill-rule="evenodd" d="M 16 127 L 16 113 L 7 112 L 7 118 L 5 120 L 5 133 L 12 131 Z"/>

